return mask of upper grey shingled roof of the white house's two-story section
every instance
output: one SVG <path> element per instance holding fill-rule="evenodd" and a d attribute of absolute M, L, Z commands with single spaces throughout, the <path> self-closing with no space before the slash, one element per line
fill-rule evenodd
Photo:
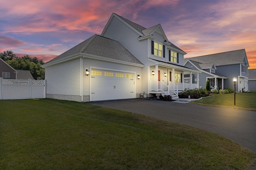
<path fill-rule="evenodd" d="M 158 25 L 161 25 L 160 23 L 157 25 L 154 25 L 152 27 L 149 28 L 145 28 L 142 27 L 141 25 L 134 23 L 122 16 L 119 16 L 118 14 L 114 13 L 116 16 L 118 16 L 120 19 L 122 19 L 123 21 L 125 21 L 126 23 L 128 23 L 130 26 L 132 26 L 134 29 L 136 29 L 137 31 L 139 31 L 140 33 L 142 33 L 143 35 L 149 35 Z M 182 49 L 180 49 L 179 47 L 177 47 L 176 45 L 174 45 L 172 42 L 168 41 L 169 43 L 171 43 L 171 47 L 178 49 L 180 51 L 183 51 Z M 185 51 L 183 51 L 184 53 L 186 53 Z"/>

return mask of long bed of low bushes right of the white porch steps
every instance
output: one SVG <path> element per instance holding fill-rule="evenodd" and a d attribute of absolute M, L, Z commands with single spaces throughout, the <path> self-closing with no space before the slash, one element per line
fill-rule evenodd
<path fill-rule="evenodd" d="M 206 89 L 195 88 L 193 90 L 183 90 L 179 95 L 179 98 L 199 99 L 202 97 L 210 96 L 210 93 Z"/>

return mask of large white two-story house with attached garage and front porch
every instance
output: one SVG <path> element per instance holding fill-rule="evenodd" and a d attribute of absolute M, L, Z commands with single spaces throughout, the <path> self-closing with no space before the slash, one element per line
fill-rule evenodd
<path fill-rule="evenodd" d="M 184 74 L 201 71 L 184 66 L 186 52 L 168 41 L 160 24 L 142 27 L 112 14 L 101 35 L 42 65 L 46 97 L 89 102 L 173 95 L 199 82 Z"/>

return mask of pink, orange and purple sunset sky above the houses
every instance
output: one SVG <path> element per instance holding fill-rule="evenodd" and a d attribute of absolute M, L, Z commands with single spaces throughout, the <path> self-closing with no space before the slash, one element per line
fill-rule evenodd
<path fill-rule="evenodd" d="M 0 53 L 49 61 L 100 35 L 113 12 L 160 23 L 185 58 L 245 49 L 256 68 L 255 0 L 0 0 Z"/>

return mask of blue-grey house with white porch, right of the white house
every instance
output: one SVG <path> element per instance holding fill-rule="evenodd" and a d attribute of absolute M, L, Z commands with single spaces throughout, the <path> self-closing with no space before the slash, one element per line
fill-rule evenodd
<path fill-rule="evenodd" d="M 187 58 L 184 63 L 188 68 L 202 71 L 199 74 L 199 86 L 202 88 L 205 88 L 207 80 L 213 88 L 234 88 L 233 78 L 236 77 L 236 91 L 248 91 L 249 63 L 245 49 Z M 198 76 L 194 75 L 194 79 L 198 80 Z"/>

